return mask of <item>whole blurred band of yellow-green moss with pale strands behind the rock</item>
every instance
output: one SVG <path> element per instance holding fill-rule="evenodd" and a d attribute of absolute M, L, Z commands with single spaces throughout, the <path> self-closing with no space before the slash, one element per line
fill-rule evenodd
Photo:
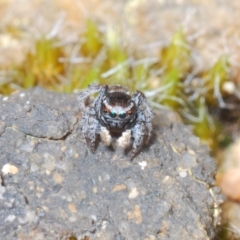
<path fill-rule="evenodd" d="M 171 42 L 159 49 L 157 59 L 129 50 L 116 27 L 101 30 L 94 21 L 72 46 L 61 45 L 56 37 L 42 36 L 25 60 L 12 66 L 8 81 L 0 83 L 0 93 L 42 86 L 73 92 L 90 83 L 122 84 L 145 92 L 155 107 L 168 106 L 213 150 L 223 141 L 221 124 L 209 113 L 225 96 L 223 85 L 229 81 L 229 61 L 222 56 L 213 66 L 193 74 L 192 49 L 180 29 Z M 72 49 L 69 51 L 69 49 Z M 4 69 L 2 69 L 4 70 Z M 226 136 L 227 138 L 227 136 Z"/>

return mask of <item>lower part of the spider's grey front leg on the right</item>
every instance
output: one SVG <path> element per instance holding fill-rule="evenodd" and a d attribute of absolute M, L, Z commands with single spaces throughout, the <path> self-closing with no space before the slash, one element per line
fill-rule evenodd
<path fill-rule="evenodd" d="M 131 159 L 142 149 L 146 139 L 146 125 L 143 122 L 137 122 L 132 129 L 132 136 L 134 138 L 131 152 Z"/>

